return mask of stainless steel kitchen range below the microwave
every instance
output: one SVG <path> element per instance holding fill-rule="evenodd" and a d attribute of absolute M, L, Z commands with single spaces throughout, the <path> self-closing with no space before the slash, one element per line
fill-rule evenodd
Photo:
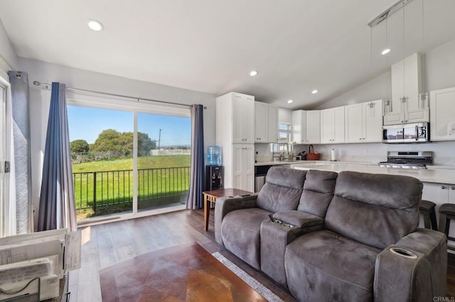
<path fill-rule="evenodd" d="M 379 167 L 427 169 L 427 164 L 432 163 L 432 151 L 388 151 L 387 162 L 380 162 Z"/>

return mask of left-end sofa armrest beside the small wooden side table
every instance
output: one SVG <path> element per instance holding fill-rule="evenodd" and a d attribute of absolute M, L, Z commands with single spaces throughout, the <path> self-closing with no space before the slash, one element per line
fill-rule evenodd
<path fill-rule="evenodd" d="M 223 245 L 221 238 L 221 222 L 229 212 L 240 210 L 241 208 L 255 208 L 257 193 L 248 196 L 227 196 L 218 198 L 215 203 L 215 240 Z"/>

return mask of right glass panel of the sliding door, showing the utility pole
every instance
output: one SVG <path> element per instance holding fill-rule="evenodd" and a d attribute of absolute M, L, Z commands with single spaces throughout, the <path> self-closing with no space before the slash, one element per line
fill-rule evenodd
<path fill-rule="evenodd" d="M 191 119 L 137 113 L 139 210 L 186 203 L 191 164 Z"/>

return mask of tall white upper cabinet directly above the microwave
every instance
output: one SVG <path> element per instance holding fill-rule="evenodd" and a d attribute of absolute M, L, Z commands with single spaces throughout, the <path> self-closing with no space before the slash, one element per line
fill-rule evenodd
<path fill-rule="evenodd" d="M 418 53 L 392 65 L 392 100 L 384 106 L 384 125 L 429 121 L 428 101 L 422 94 L 422 56 Z"/>

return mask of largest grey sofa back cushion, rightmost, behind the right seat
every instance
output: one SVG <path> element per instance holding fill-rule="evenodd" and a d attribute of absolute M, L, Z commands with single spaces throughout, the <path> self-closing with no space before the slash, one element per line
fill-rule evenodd
<path fill-rule="evenodd" d="M 340 172 L 325 228 L 383 249 L 417 228 L 421 196 L 413 177 Z"/>

